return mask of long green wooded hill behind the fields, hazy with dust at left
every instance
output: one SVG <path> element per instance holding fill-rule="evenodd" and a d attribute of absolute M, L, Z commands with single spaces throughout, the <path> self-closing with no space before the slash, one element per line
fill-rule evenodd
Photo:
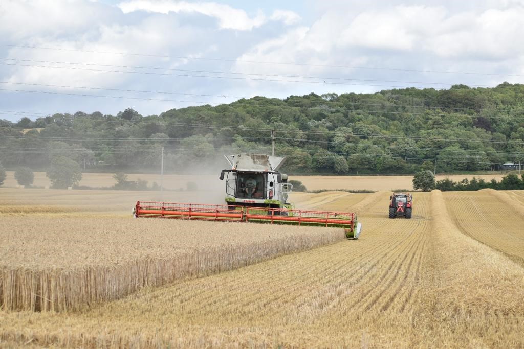
<path fill-rule="evenodd" d="M 30 130 L 28 130 L 30 129 Z M 286 156 L 290 173 L 409 174 L 524 162 L 524 85 L 254 97 L 141 116 L 129 108 L 0 121 L 0 162 L 46 168 L 66 155 L 89 171 L 184 172 L 223 154 Z M 195 161 L 198 159 L 198 161 Z M 225 161 L 220 161 L 222 167 Z"/>

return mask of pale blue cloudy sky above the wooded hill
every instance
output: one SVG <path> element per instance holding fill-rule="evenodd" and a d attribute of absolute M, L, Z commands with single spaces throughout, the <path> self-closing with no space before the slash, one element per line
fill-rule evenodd
<path fill-rule="evenodd" d="M 524 83 L 524 0 L 0 0 L 0 119 Z"/>

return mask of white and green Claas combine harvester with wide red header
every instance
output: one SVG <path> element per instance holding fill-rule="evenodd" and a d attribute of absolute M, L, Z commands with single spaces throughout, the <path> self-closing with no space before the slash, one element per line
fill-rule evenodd
<path fill-rule="evenodd" d="M 335 227 L 343 228 L 348 239 L 358 239 L 362 225 L 355 213 L 296 210 L 289 204 L 293 186 L 277 171 L 283 157 L 239 154 L 226 159 L 232 168 L 220 174 L 226 184 L 225 205 L 138 201 L 134 216 Z"/>

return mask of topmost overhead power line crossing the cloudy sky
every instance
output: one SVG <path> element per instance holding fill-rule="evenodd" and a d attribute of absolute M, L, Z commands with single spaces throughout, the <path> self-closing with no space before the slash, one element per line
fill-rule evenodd
<path fill-rule="evenodd" d="M 162 54 L 148 54 L 148 53 L 136 53 L 136 52 L 82 50 L 82 49 L 69 49 L 69 48 L 58 48 L 58 47 L 22 46 L 22 45 L 11 45 L 11 44 L 0 44 L 0 47 L 23 48 L 23 49 L 32 49 L 32 50 L 53 50 L 53 51 L 66 51 L 66 52 L 103 53 L 103 54 L 128 55 L 128 56 L 136 56 L 136 57 L 184 59 L 184 60 L 194 60 L 194 61 L 217 61 L 217 62 L 235 62 L 235 63 L 239 62 L 239 63 L 251 63 L 251 64 L 276 64 L 276 65 L 289 65 L 289 66 L 311 66 L 311 67 L 329 67 L 329 68 L 362 69 L 362 70 L 384 70 L 384 71 L 438 73 L 438 74 L 444 73 L 444 74 L 468 74 L 468 75 L 487 75 L 487 76 L 516 76 L 516 77 L 524 76 L 524 75 L 518 75 L 518 74 L 499 74 L 499 73 L 445 71 L 445 70 L 399 69 L 399 68 L 387 68 L 387 67 L 352 66 L 352 65 L 342 65 L 342 64 L 340 65 L 309 64 L 309 63 L 295 63 L 295 62 L 239 60 L 239 59 L 231 59 L 231 58 L 203 58 L 203 57 L 190 57 L 190 56 L 183 56 L 183 55 L 167 55 L 167 54 L 162 55 Z"/>

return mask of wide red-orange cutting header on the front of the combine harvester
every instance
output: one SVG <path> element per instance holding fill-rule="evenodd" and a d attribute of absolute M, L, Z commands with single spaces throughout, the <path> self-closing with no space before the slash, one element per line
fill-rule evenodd
<path fill-rule="evenodd" d="M 260 208 L 226 205 L 174 204 L 138 201 L 135 217 L 289 224 L 343 228 L 348 239 L 358 239 L 361 223 L 354 213 Z"/>

